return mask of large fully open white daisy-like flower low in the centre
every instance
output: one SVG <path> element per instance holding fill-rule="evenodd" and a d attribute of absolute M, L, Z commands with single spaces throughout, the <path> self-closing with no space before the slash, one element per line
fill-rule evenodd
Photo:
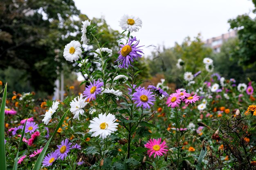
<path fill-rule="evenodd" d="M 94 117 L 90 120 L 91 123 L 89 126 L 89 132 L 94 132 L 91 136 L 99 136 L 100 138 L 105 139 L 108 135 L 117 131 L 118 123 L 114 123 L 116 120 L 116 117 L 111 113 L 108 115 L 106 115 L 106 113 L 104 115 L 101 113 L 99 114 L 99 118 Z"/>

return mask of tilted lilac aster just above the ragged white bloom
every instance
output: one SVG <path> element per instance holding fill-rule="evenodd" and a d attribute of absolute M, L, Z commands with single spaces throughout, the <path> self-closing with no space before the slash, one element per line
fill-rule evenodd
<path fill-rule="evenodd" d="M 103 86 L 103 82 L 100 82 L 100 80 L 98 79 L 97 82 L 90 82 L 90 85 L 88 85 L 87 87 L 85 87 L 85 91 L 83 92 L 83 97 L 86 97 L 87 99 L 89 99 L 89 102 L 91 100 L 96 99 L 96 95 L 101 93 L 101 86 Z"/>

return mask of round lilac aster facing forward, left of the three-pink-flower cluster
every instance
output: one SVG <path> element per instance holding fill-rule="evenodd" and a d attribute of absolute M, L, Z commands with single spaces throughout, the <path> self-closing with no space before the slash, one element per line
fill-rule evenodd
<path fill-rule="evenodd" d="M 149 104 L 154 105 L 155 101 L 155 95 L 153 95 L 153 92 L 148 90 L 137 90 L 132 95 L 132 100 L 135 100 L 135 104 L 137 104 L 137 107 L 141 107 L 146 109 L 150 108 Z"/>

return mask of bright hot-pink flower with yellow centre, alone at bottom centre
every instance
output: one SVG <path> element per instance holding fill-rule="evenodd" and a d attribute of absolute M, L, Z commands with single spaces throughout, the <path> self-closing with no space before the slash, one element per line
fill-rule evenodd
<path fill-rule="evenodd" d="M 154 155 L 154 158 L 156 156 L 162 156 L 163 154 L 166 154 L 166 152 L 168 151 L 167 149 L 165 148 L 168 148 L 166 146 L 166 142 L 163 141 L 162 144 L 161 143 L 161 138 L 159 139 L 149 139 L 148 143 L 145 144 L 145 148 L 148 148 L 148 155 L 149 157 L 151 157 L 151 155 L 155 154 Z"/>

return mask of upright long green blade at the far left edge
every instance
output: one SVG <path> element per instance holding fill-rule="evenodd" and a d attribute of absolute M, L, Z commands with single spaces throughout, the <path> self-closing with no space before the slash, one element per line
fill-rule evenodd
<path fill-rule="evenodd" d="M 7 83 L 4 87 L 4 95 L 2 98 L 2 104 L 0 108 L 0 166 L 1 170 L 6 170 L 6 158 L 5 158 L 5 145 L 4 145 L 4 110 L 7 94 Z"/>

